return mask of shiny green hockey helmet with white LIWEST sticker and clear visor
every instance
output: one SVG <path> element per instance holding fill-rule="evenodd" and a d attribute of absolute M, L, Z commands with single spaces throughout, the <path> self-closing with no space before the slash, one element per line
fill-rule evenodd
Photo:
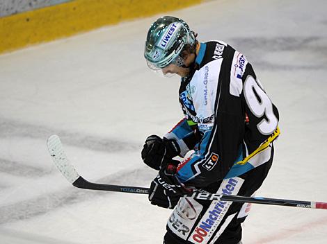
<path fill-rule="evenodd" d="M 147 32 L 144 57 L 151 69 L 162 69 L 175 62 L 182 67 L 180 53 L 186 44 L 196 42 L 194 33 L 182 19 L 164 16 L 151 25 Z"/>

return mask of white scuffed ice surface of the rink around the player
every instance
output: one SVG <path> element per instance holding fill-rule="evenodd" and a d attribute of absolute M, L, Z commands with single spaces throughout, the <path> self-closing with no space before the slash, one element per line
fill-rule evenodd
<path fill-rule="evenodd" d="M 273 168 L 257 196 L 327 202 L 327 2 L 218 0 L 167 15 L 200 41 L 246 55 L 280 111 Z M 93 182 L 148 187 L 150 134 L 182 118 L 179 78 L 143 59 L 161 15 L 0 55 L 0 243 L 162 243 L 168 209 L 146 195 L 75 189 L 46 148 L 61 136 Z M 253 205 L 244 244 L 327 243 L 327 211 Z"/>

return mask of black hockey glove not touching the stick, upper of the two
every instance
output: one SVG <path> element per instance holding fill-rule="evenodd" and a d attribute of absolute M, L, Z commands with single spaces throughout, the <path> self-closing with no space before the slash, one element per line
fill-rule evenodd
<path fill-rule="evenodd" d="M 165 168 L 168 160 L 179 154 L 180 146 L 177 141 L 165 137 L 161 139 L 152 134 L 145 140 L 141 157 L 147 166 L 159 171 L 161 168 Z"/>

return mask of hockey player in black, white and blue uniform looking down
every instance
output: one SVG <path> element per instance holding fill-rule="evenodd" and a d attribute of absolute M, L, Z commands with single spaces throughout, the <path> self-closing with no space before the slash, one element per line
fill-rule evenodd
<path fill-rule="evenodd" d="M 143 162 L 159 171 L 149 200 L 174 209 L 163 243 L 237 244 L 248 204 L 181 195 L 253 195 L 273 162 L 278 110 L 242 53 L 196 37 L 182 19 L 170 16 L 157 19 L 147 33 L 147 64 L 181 76 L 184 112 L 170 132 L 147 137 L 143 146 Z M 184 160 L 173 159 L 177 155 Z"/>

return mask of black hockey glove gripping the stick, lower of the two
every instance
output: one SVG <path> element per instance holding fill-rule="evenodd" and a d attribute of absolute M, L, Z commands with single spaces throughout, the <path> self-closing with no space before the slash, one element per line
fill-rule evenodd
<path fill-rule="evenodd" d="M 151 182 L 149 200 L 151 204 L 173 209 L 182 195 L 192 192 L 186 189 L 175 177 L 177 165 L 180 162 L 170 160 L 166 168 L 161 168 L 157 177 Z"/>

